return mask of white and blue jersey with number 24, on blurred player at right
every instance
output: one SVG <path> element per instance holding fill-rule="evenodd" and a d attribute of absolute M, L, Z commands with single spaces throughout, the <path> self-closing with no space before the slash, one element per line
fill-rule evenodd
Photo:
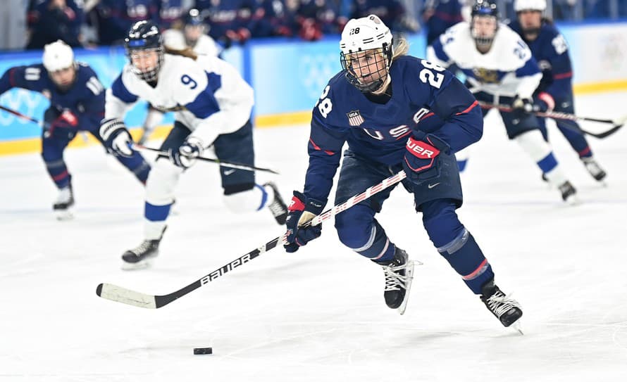
<path fill-rule="evenodd" d="M 495 96 L 531 98 L 542 79 L 527 44 L 501 23 L 487 53 L 477 50 L 470 24 L 462 22 L 450 27 L 439 41 L 429 46 L 427 57 L 445 67 L 457 65 L 473 93 L 485 91 Z"/>

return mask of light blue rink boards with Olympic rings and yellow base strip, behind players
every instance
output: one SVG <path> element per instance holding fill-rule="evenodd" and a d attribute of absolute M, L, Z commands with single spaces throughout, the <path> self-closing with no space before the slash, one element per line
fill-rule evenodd
<path fill-rule="evenodd" d="M 627 90 L 627 23 L 560 25 L 569 44 L 576 94 Z M 262 39 L 235 46 L 223 58 L 235 65 L 255 90 L 256 127 L 307 124 L 311 108 L 328 80 L 340 71 L 339 36 L 318 42 L 296 39 Z M 409 36 L 410 53 L 424 56 L 422 34 Z M 0 72 L 15 65 L 40 63 L 41 52 L 0 54 Z M 75 51 L 78 61 L 88 63 L 109 87 L 127 59 L 121 48 Z M 41 120 L 49 102 L 44 96 L 12 89 L 0 96 L 0 104 Z M 142 125 L 146 103 L 140 101 L 125 117 L 130 127 Z M 163 121 L 171 124 L 172 115 Z M 39 150 L 41 129 L 0 111 L 0 155 Z M 28 144 L 21 142 L 28 141 Z M 8 148 L 11 146 L 11 148 Z"/>

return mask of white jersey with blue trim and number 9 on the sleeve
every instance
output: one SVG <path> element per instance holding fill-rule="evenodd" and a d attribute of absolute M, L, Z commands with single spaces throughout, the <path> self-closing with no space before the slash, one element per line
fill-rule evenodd
<path fill-rule="evenodd" d="M 235 132 L 249 120 L 253 90 L 229 63 L 199 56 L 197 60 L 165 54 L 156 87 L 139 79 L 130 63 L 106 91 L 105 118 L 123 119 L 138 98 L 192 130 L 190 136 L 209 146 L 219 134 Z"/>

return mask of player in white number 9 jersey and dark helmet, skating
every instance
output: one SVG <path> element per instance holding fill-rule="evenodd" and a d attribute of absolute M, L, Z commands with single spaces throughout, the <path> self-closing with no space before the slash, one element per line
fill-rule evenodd
<path fill-rule="evenodd" d="M 164 53 L 159 28 L 149 21 L 135 23 L 125 39 L 130 63 L 106 93 L 105 119 L 100 127 L 108 147 L 131 155 L 125 110 L 138 98 L 164 111 L 175 111 L 175 124 L 161 145 L 169 158 L 159 157 L 146 184 L 144 241 L 122 258 L 124 269 L 148 265 L 159 241 L 180 174 L 213 146 L 218 159 L 254 165 L 250 115 L 253 90 L 231 65 L 219 58 L 196 59 Z M 168 160 L 169 159 L 169 160 Z M 273 184 L 256 184 L 254 172 L 221 168 L 224 202 L 233 212 L 268 207 L 279 224 L 287 208 Z"/>

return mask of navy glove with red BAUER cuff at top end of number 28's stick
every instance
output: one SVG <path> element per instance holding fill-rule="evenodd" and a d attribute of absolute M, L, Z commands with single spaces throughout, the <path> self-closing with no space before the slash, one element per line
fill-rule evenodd
<path fill-rule="evenodd" d="M 433 134 L 418 132 L 407 139 L 405 148 L 403 170 L 407 179 L 414 184 L 421 184 L 440 176 L 440 158 L 437 155 L 440 155 L 440 151 L 449 151 L 445 141 Z"/>

